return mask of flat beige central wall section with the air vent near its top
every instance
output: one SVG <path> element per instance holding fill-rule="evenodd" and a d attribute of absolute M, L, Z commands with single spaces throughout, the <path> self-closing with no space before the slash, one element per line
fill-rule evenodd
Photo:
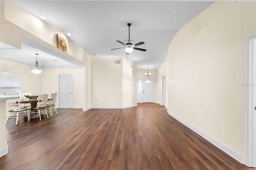
<path fill-rule="evenodd" d="M 92 108 L 122 108 L 122 57 L 91 58 L 91 78 Z"/>

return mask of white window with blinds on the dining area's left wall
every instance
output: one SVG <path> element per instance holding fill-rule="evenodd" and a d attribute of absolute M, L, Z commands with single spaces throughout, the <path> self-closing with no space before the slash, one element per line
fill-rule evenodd
<path fill-rule="evenodd" d="M 0 71 L 0 95 L 20 95 L 21 73 Z"/>

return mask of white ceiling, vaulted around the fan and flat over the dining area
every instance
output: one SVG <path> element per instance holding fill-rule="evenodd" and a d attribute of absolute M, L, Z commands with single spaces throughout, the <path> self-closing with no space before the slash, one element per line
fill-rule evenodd
<path fill-rule="evenodd" d="M 148 65 L 150 70 L 158 70 L 166 60 L 168 45 L 176 32 L 213 3 L 153 0 L 10 0 L 9 2 L 38 18 L 45 16 L 46 19 L 42 20 L 62 30 L 66 36 L 70 33 L 71 36 L 68 38 L 74 45 L 84 47 L 91 57 L 125 57 L 137 63 L 137 70 L 147 70 Z M 130 40 L 134 43 L 143 41 L 145 44 L 137 47 L 147 51 L 134 50 L 126 55 L 124 49 L 110 50 L 124 47 L 116 40 L 121 42 L 128 40 L 127 23 L 132 24 Z M 24 43 L 22 50 L 19 50 L 1 49 L 1 59 L 35 65 L 34 53 L 39 53 L 39 67 L 79 67 L 56 57 L 51 58 L 54 56 L 37 51 Z M 40 58 L 42 55 L 48 57 Z M 24 58 L 26 56 L 30 58 Z"/>

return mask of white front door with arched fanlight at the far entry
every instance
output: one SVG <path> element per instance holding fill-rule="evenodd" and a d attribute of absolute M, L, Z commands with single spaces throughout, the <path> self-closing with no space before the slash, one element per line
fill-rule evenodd
<path fill-rule="evenodd" d="M 154 79 L 143 79 L 143 103 L 154 102 Z"/>

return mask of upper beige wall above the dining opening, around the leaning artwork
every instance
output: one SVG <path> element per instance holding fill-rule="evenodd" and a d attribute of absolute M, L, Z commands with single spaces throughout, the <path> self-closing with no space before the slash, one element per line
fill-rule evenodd
<path fill-rule="evenodd" d="M 0 42 L 21 48 L 21 37 L 24 36 L 54 53 L 59 53 L 62 59 L 72 59 L 82 64 L 81 57 L 76 56 L 76 47 L 61 30 L 10 2 L 0 1 L 0 9 Z M 61 34 L 66 39 L 68 54 L 58 49 L 56 34 Z"/>

